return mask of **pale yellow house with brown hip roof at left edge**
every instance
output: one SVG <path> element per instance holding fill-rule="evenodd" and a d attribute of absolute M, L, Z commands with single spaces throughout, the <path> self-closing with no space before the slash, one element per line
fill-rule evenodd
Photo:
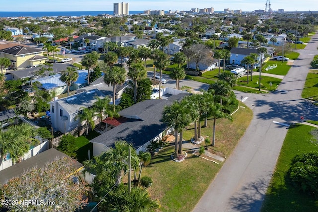
<path fill-rule="evenodd" d="M 42 49 L 16 45 L 1 49 L 0 57 L 10 59 L 11 69 L 20 69 L 45 63 L 48 58 L 44 55 L 44 52 Z"/>

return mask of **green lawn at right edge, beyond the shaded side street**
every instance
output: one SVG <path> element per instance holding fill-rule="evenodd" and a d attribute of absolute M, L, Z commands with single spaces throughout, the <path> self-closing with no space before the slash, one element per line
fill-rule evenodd
<path fill-rule="evenodd" d="M 302 98 L 318 101 L 318 71 L 310 70 L 307 74 Z"/>

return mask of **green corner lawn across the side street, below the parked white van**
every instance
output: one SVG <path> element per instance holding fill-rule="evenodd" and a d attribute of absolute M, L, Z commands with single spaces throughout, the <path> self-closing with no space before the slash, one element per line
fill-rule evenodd
<path fill-rule="evenodd" d="M 256 73 L 256 72 L 254 72 Z M 259 75 L 253 75 L 253 81 L 250 81 L 249 84 L 247 84 L 247 76 L 244 77 L 240 77 L 238 78 L 237 81 L 237 85 L 243 85 L 246 87 L 251 87 L 251 88 L 259 88 L 258 85 L 258 79 L 259 79 Z M 281 79 L 277 79 L 277 78 L 273 78 L 273 77 L 269 77 L 269 76 L 261 76 L 261 84 L 263 84 L 263 86 L 261 87 L 262 90 L 268 90 L 268 91 L 273 91 L 276 89 L 276 87 L 279 85 L 279 83 L 281 82 Z M 272 83 L 272 86 L 270 86 L 270 83 Z"/>

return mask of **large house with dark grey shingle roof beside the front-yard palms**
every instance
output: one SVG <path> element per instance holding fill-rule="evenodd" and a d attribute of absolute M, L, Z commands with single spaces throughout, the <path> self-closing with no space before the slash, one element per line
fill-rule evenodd
<path fill-rule="evenodd" d="M 93 143 L 94 156 L 114 147 L 115 141 L 119 139 L 132 143 L 137 153 L 146 151 L 151 141 L 171 132 L 162 121 L 163 107 L 186 95 L 181 93 L 167 99 L 145 100 L 120 111 L 119 118 L 105 119 L 103 122 L 114 127 L 89 141 Z"/>

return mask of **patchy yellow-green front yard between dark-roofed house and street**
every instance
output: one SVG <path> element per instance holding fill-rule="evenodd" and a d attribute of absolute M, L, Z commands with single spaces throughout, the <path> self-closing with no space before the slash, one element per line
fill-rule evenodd
<path fill-rule="evenodd" d="M 243 105 L 240 103 L 240 105 Z M 252 119 L 252 111 L 248 107 L 240 108 L 233 115 L 233 122 L 218 119 L 216 125 L 216 145 L 212 148 L 229 155 Z M 203 122 L 201 122 L 203 125 Z M 208 120 L 208 127 L 202 128 L 201 135 L 212 138 L 213 120 Z M 183 133 L 185 140 L 193 137 L 193 126 Z M 153 179 L 148 189 L 152 198 L 158 199 L 162 212 L 190 212 L 200 200 L 205 190 L 222 167 L 213 162 L 197 157 L 184 149 L 188 157 L 182 162 L 171 160 L 174 146 L 167 147 L 152 157 L 150 164 L 143 169 L 142 176 Z"/>

